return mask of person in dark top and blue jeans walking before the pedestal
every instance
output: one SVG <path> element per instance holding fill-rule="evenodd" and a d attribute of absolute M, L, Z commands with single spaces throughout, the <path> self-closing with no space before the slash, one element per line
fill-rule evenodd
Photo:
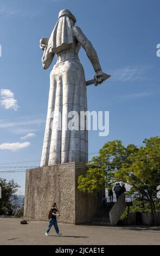
<path fill-rule="evenodd" d="M 48 225 L 48 228 L 46 230 L 45 235 L 48 235 L 48 233 L 49 233 L 49 231 L 50 231 L 50 229 L 52 228 L 53 225 L 54 225 L 56 234 L 58 236 L 62 235 L 62 233 L 60 233 L 60 231 L 59 231 L 59 227 L 57 225 L 57 220 L 56 220 L 56 216 L 60 216 L 60 214 L 57 214 L 56 212 L 57 212 L 57 205 L 56 205 L 56 203 L 54 203 L 52 208 L 50 209 L 50 212 L 49 212 L 49 215 L 50 215 L 49 225 Z"/>

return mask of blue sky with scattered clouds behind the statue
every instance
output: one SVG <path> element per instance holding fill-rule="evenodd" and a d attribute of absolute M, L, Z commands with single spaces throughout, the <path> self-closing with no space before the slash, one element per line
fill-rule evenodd
<path fill-rule="evenodd" d="M 0 171 L 40 164 L 53 65 L 42 69 L 39 40 L 49 37 L 61 9 L 76 16 L 112 76 L 87 88 L 88 110 L 110 111 L 109 135 L 89 132 L 89 159 L 107 141 L 140 145 L 159 135 L 159 8 L 159 0 L 1 0 Z M 94 71 L 84 50 L 79 57 L 90 80 Z M 15 179 L 24 193 L 25 173 L 0 176 Z"/>

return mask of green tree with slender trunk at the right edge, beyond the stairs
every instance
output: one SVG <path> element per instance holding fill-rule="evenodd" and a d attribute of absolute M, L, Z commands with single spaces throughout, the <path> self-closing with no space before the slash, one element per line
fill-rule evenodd
<path fill-rule="evenodd" d="M 129 183 L 130 193 L 137 194 L 150 205 L 152 222 L 156 223 L 156 188 L 160 184 L 160 138 L 144 140 L 136 156 L 130 155 L 121 168 L 114 173 L 115 178 Z"/>

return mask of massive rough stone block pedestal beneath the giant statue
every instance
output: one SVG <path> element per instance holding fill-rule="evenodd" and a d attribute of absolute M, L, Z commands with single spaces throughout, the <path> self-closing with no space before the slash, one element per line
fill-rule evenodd
<path fill-rule="evenodd" d="M 84 163 L 75 162 L 27 170 L 24 217 L 47 221 L 48 211 L 56 202 L 61 214 L 57 219 L 59 222 L 90 222 L 101 206 L 101 195 L 78 190 L 78 176 L 86 171 Z"/>

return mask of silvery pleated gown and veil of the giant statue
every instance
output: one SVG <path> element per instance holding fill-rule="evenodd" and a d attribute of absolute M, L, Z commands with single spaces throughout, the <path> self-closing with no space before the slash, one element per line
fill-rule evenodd
<path fill-rule="evenodd" d="M 70 26 L 68 20 L 66 20 L 66 26 Z M 60 26 L 57 24 L 56 26 L 55 29 L 59 27 L 60 30 Z M 64 25 L 61 29 L 65 29 Z M 56 41 L 53 41 L 55 31 Z M 74 161 L 87 162 L 88 160 L 86 127 L 83 130 L 80 129 L 80 120 L 79 130 L 69 130 L 67 127 L 68 121 L 71 120 L 71 118 L 67 120 L 70 111 L 78 112 L 79 117 L 80 111 L 87 111 L 85 74 L 78 58 L 80 44 L 74 33 L 71 35 L 72 28 L 69 28 L 68 37 L 66 36 L 67 39 L 65 39 L 69 40 L 67 44 L 65 40 L 63 44 L 60 40 L 58 41 L 57 34 L 61 34 L 62 31 L 60 33 L 55 31 L 50 36 L 47 50 L 56 53 L 57 62 L 50 73 L 48 113 L 41 166 Z M 61 35 L 60 38 L 62 40 Z M 50 61 L 47 58 L 49 57 L 46 55 L 46 62 Z"/>

